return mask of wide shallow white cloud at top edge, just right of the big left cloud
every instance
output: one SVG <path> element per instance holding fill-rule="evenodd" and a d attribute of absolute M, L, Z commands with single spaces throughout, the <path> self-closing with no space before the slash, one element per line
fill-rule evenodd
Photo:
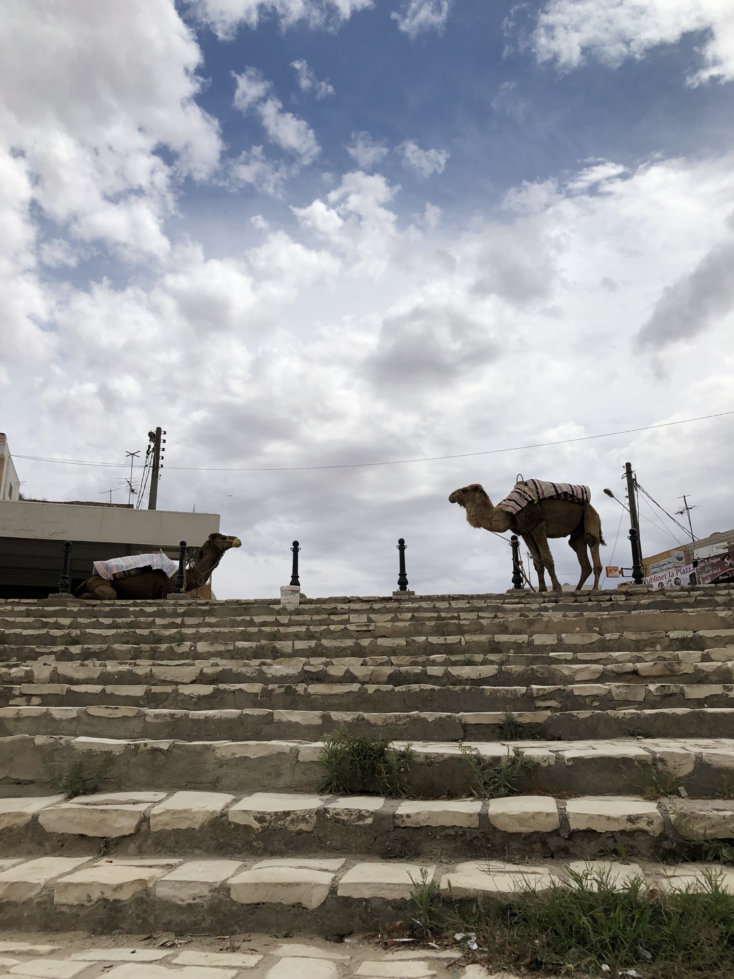
<path fill-rule="evenodd" d="M 303 22 L 312 28 L 335 29 L 372 0 L 190 0 L 189 8 L 222 39 L 232 38 L 241 24 L 256 27 L 273 15 L 290 27 Z"/>

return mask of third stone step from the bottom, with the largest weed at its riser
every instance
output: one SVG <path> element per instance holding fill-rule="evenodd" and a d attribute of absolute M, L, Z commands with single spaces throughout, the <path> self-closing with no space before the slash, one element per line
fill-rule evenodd
<path fill-rule="evenodd" d="M 406 742 L 394 742 L 397 748 Z M 78 762 L 88 772 L 109 760 L 105 791 L 162 789 L 228 791 L 318 791 L 325 770 L 323 743 L 305 740 L 122 739 L 19 734 L 0 738 L 0 785 L 6 795 L 24 787 L 51 794 L 52 777 Z M 619 795 L 648 791 L 681 780 L 697 798 L 732 791 L 734 740 L 646 738 L 588 741 L 413 742 L 404 766 L 406 791 L 425 798 L 472 793 L 478 768 L 491 774 L 521 751 L 532 767 L 518 782 L 524 792 L 595 792 L 604 785 Z M 468 757 L 471 756 L 471 757 Z M 401 769 L 402 770 L 402 769 Z"/>

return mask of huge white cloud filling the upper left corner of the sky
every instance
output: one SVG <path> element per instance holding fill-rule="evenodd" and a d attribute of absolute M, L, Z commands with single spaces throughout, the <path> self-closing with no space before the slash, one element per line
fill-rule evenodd
<path fill-rule="evenodd" d="M 194 101 L 200 62 L 172 0 L 12 5 L 0 38 L 0 152 L 22 161 L 34 205 L 66 233 L 161 258 L 176 181 L 208 176 L 221 149 L 216 121 Z"/>

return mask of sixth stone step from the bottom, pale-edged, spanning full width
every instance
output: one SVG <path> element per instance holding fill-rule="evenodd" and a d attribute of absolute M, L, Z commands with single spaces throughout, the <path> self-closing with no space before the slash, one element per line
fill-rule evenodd
<path fill-rule="evenodd" d="M 161 683 L 268 683 L 273 679 L 306 683 L 431 683 L 457 686 L 482 683 L 640 682 L 650 677 L 684 676 L 687 683 L 727 682 L 734 676 L 734 646 L 705 651 L 658 653 L 549 653 L 530 657 L 481 653 L 419 657 L 292 657 L 278 660 L 174 660 L 153 662 L 57 661 L 48 655 L 0 668 L 4 696 L 18 697 L 25 684 L 154 685 Z M 533 659 L 535 662 L 533 662 Z M 375 662 L 376 660 L 380 662 Z M 406 662 L 407 661 L 407 662 Z M 510 662 L 508 662 L 510 661 Z M 539 662 L 538 662 L 539 661 Z M 12 688 L 12 692 L 11 692 Z M 23 691 L 23 695 L 27 691 Z M 35 691 L 32 692 L 33 695 Z"/>

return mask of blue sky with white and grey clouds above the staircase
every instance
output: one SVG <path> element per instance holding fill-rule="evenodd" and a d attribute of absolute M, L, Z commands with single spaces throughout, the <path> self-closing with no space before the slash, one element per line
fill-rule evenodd
<path fill-rule="evenodd" d="M 734 526 L 734 416 L 568 442 L 734 409 L 731 0 L 8 0 L 0 29 L 26 495 L 103 499 L 123 469 L 20 456 L 121 463 L 160 424 L 160 507 L 243 539 L 220 597 L 277 593 L 294 537 L 310 595 L 389 593 L 398 536 L 417 591 L 504 589 L 447 496 L 518 473 L 591 487 L 606 564 L 627 459 Z M 642 516 L 645 553 L 683 539 Z"/>

